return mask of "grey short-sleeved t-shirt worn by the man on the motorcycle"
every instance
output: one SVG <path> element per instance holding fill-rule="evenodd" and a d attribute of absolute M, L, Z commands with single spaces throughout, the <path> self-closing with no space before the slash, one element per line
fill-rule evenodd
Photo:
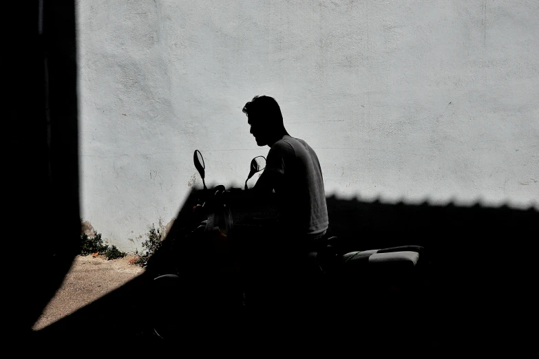
<path fill-rule="evenodd" d="M 284 175 L 282 188 L 275 190 L 279 224 L 301 235 L 323 235 L 328 209 L 315 151 L 304 140 L 285 135 L 271 146 L 264 171 Z"/>

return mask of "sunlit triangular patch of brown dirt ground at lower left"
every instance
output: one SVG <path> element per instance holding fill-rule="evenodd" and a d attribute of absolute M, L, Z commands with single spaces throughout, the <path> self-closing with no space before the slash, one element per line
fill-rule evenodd
<path fill-rule="evenodd" d="M 43 329 L 142 274 L 143 268 L 128 263 L 132 258 L 107 261 L 101 256 L 77 256 L 58 292 L 32 329 Z"/>

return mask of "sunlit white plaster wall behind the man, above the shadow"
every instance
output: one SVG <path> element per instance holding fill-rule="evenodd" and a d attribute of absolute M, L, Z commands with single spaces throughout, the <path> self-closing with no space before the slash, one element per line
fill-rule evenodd
<path fill-rule="evenodd" d="M 268 151 L 241 111 L 257 94 L 328 195 L 539 208 L 538 19 L 536 0 L 78 1 L 83 217 L 140 249 L 200 184 L 195 149 L 241 186 Z"/>

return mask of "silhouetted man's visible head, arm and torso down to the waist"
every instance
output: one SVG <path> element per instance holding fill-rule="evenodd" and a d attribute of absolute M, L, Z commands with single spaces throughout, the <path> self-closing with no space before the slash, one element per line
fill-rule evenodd
<path fill-rule="evenodd" d="M 299 241 L 308 242 L 323 236 L 328 229 L 328 210 L 324 179 L 315 151 L 304 140 L 288 134 L 274 98 L 255 96 L 246 103 L 243 112 L 257 144 L 271 147 L 254 192 L 264 195 L 275 190 L 279 229 Z"/>

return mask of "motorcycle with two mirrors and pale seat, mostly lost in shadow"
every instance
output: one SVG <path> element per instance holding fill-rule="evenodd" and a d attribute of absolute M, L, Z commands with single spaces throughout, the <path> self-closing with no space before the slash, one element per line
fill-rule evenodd
<path fill-rule="evenodd" d="M 154 279 L 156 301 L 162 303 L 153 316 L 154 333 L 165 340 L 187 338 L 187 332 L 190 338 L 206 338 L 209 327 L 210 331 L 235 335 L 249 332 L 251 301 L 244 274 L 251 268 L 244 265 L 244 259 L 254 256 L 256 261 L 256 254 L 246 248 L 275 223 L 275 217 L 264 217 L 264 208 L 253 209 L 249 199 L 247 181 L 264 170 L 264 156 L 251 161 L 243 189 L 226 190 L 222 185 L 208 189 L 200 151 L 193 154 L 193 162 L 203 183 L 202 196 L 193 206 L 201 221 L 195 221 L 182 239 L 185 245 L 178 250 L 174 272 Z M 242 201 L 247 202 L 249 215 L 238 209 Z M 403 337 L 403 333 L 405 338 L 424 335 L 427 313 L 421 310 L 430 263 L 425 248 L 346 252 L 343 242 L 335 236 L 323 237 L 315 249 L 308 250 L 302 264 L 313 279 L 309 283 L 315 290 L 310 293 L 318 297 L 314 325 L 326 328 L 322 330 L 332 328 L 338 340 L 383 341 Z M 354 323 L 354 318 L 361 318 L 362 324 L 347 328 L 346 323 Z"/>

